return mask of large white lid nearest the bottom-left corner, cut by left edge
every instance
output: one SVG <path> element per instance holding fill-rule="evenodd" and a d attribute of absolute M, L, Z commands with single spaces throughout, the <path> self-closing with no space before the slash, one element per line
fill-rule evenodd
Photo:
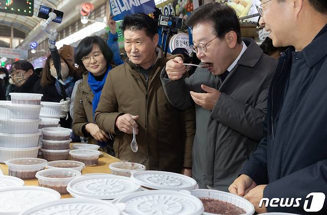
<path fill-rule="evenodd" d="M 59 200 L 60 197 L 57 191 L 45 187 L 0 189 L 0 215 L 18 215 L 35 206 Z"/>

